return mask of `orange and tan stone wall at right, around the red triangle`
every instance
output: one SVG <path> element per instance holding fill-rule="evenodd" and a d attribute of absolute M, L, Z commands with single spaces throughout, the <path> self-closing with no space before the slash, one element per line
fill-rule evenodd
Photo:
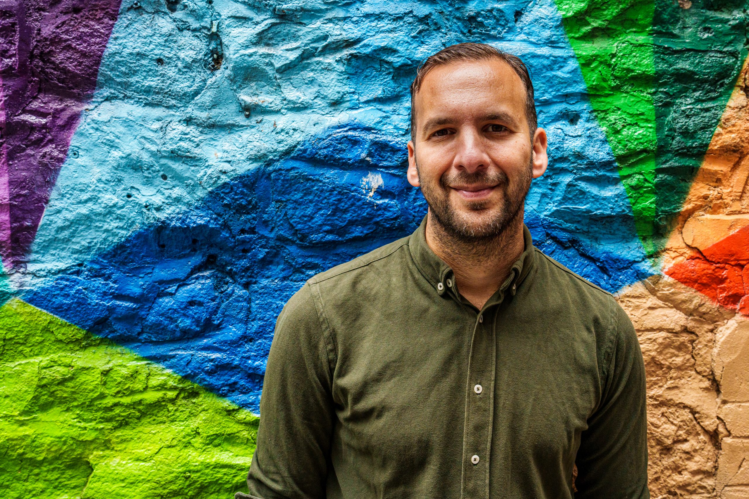
<path fill-rule="evenodd" d="M 664 251 L 664 273 L 679 278 L 672 266 L 749 226 L 748 180 L 745 61 Z M 619 293 L 648 376 L 652 497 L 749 499 L 749 317 L 696 291 L 705 279 L 682 280 L 691 287 L 656 276 Z"/>

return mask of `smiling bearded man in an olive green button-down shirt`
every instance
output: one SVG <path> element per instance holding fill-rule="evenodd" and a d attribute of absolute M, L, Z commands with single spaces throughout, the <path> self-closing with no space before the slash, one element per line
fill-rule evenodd
<path fill-rule="evenodd" d="M 450 46 L 411 101 L 428 215 L 288 301 L 237 497 L 648 498 L 634 328 L 523 224 L 548 162 L 526 67 Z"/>

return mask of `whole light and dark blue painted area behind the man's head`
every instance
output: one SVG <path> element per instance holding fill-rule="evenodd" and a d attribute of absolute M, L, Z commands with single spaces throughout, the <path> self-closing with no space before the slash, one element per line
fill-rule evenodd
<path fill-rule="evenodd" d="M 464 40 L 532 70 L 551 144 L 527 200 L 536 245 L 607 290 L 652 272 L 551 0 L 141 5 L 123 7 L 16 278 L 31 304 L 256 411 L 288 297 L 424 215 L 408 85 Z"/>

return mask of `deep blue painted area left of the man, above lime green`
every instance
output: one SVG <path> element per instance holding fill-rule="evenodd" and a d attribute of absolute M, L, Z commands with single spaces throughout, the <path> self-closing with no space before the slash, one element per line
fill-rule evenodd
<path fill-rule="evenodd" d="M 403 159 L 372 129 L 335 129 L 23 298 L 258 411 L 285 301 L 421 221 Z"/>

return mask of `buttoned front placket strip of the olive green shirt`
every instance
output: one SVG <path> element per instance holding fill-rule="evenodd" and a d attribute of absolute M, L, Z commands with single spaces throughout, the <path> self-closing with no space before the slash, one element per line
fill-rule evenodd
<path fill-rule="evenodd" d="M 496 310 L 496 307 L 492 307 Z M 489 455 L 494 418 L 494 320 L 487 310 L 476 316 L 471 337 L 463 427 L 461 498 L 489 497 Z"/>

